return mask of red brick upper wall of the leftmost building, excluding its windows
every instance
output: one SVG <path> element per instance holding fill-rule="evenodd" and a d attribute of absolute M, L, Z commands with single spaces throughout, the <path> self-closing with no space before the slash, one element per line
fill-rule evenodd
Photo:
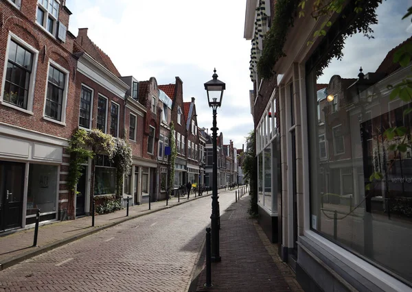
<path fill-rule="evenodd" d="M 21 3 L 21 10 L 16 9 L 9 1 L 1 1 L 0 13 L 3 17 L 3 27 L 0 30 L 0 64 L 5 64 L 5 52 L 8 47 L 8 35 L 12 32 L 28 45 L 38 51 L 36 80 L 34 82 L 33 114 L 27 114 L 14 108 L 0 105 L 0 122 L 16 125 L 29 130 L 43 132 L 69 138 L 76 124 L 71 122 L 71 110 L 74 106 L 75 86 L 73 84 L 73 69 L 76 68 L 76 59 L 71 54 L 73 39 L 67 34 L 66 43 L 62 43 L 50 36 L 42 27 L 36 24 L 36 0 L 26 0 Z M 60 5 L 59 20 L 65 25 L 69 23 L 69 14 Z M 45 88 L 49 60 L 54 60 L 70 72 L 69 88 L 67 92 L 67 119 L 66 126 L 43 119 L 45 105 Z M 4 68 L 0 68 L 0 82 L 3 80 Z M 3 88 L 3 84 L 0 84 Z M 0 93 L 3 95 L 3 93 Z"/>

